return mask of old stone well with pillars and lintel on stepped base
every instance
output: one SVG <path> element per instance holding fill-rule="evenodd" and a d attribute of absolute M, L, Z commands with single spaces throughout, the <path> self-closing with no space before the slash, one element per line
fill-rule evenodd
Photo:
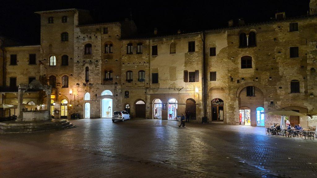
<path fill-rule="evenodd" d="M 40 110 L 24 111 L 23 94 L 25 92 L 45 93 L 43 98 L 46 99 L 44 100 L 46 101 L 46 107 L 42 107 Z M 33 80 L 30 84 L 20 84 L 18 90 L 17 119 L 16 121 L 0 122 L 0 133 L 61 130 L 76 127 L 72 123 L 69 123 L 66 119 L 52 119 L 49 110 L 50 104 L 51 87 L 49 85 L 42 85 L 37 80 Z"/>

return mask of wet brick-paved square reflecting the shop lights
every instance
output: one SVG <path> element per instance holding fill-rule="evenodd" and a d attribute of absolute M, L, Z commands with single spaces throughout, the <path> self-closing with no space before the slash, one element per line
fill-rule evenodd
<path fill-rule="evenodd" d="M 165 120 L 72 120 L 0 135 L 0 177 L 317 177 L 316 140 L 264 128 Z"/>

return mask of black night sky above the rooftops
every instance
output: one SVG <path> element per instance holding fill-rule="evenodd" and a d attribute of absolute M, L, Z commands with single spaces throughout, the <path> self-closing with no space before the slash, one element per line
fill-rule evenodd
<path fill-rule="evenodd" d="M 286 17 L 307 15 L 309 0 L 205 0 L 205 1 L 93 1 L 42 0 L 0 2 L 0 35 L 25 44 L 40 44 L 40 15 L 35 11 L 87 9 L 96 22 L 132 19 L 138 33 L 176 33 L 222 28 L 230 19 L 244 18 L 246 23 L 268 21 L 275 13 Z"/>

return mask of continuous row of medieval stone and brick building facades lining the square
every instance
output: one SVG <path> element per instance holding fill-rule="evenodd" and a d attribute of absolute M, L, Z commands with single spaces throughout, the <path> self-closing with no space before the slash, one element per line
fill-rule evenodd
<path fill-rule="evenodd" d="M 189 111 L 196 122 L 207 116 L 215 123 L 269 126 L 280 117 L 262 111 L 316 110 L 316 9 L 311 1 L 307 16 L 280 13 L 265 23 L 240 19 L 187 34 L 155 29 L 142 38 L 129 20 L 93 24 L 81 9 L 36 12 L 41 44 L 1 47 L 2 102 L 15 102 L 15 90 L 6 89 L 11 78 L 18 85 L 41 76 L 53 87 L 55 118 L 107 118 L 126 110 L 132 118 L 177 120 Z M 307 118 L 289 118 L 310 125 Z"/>

